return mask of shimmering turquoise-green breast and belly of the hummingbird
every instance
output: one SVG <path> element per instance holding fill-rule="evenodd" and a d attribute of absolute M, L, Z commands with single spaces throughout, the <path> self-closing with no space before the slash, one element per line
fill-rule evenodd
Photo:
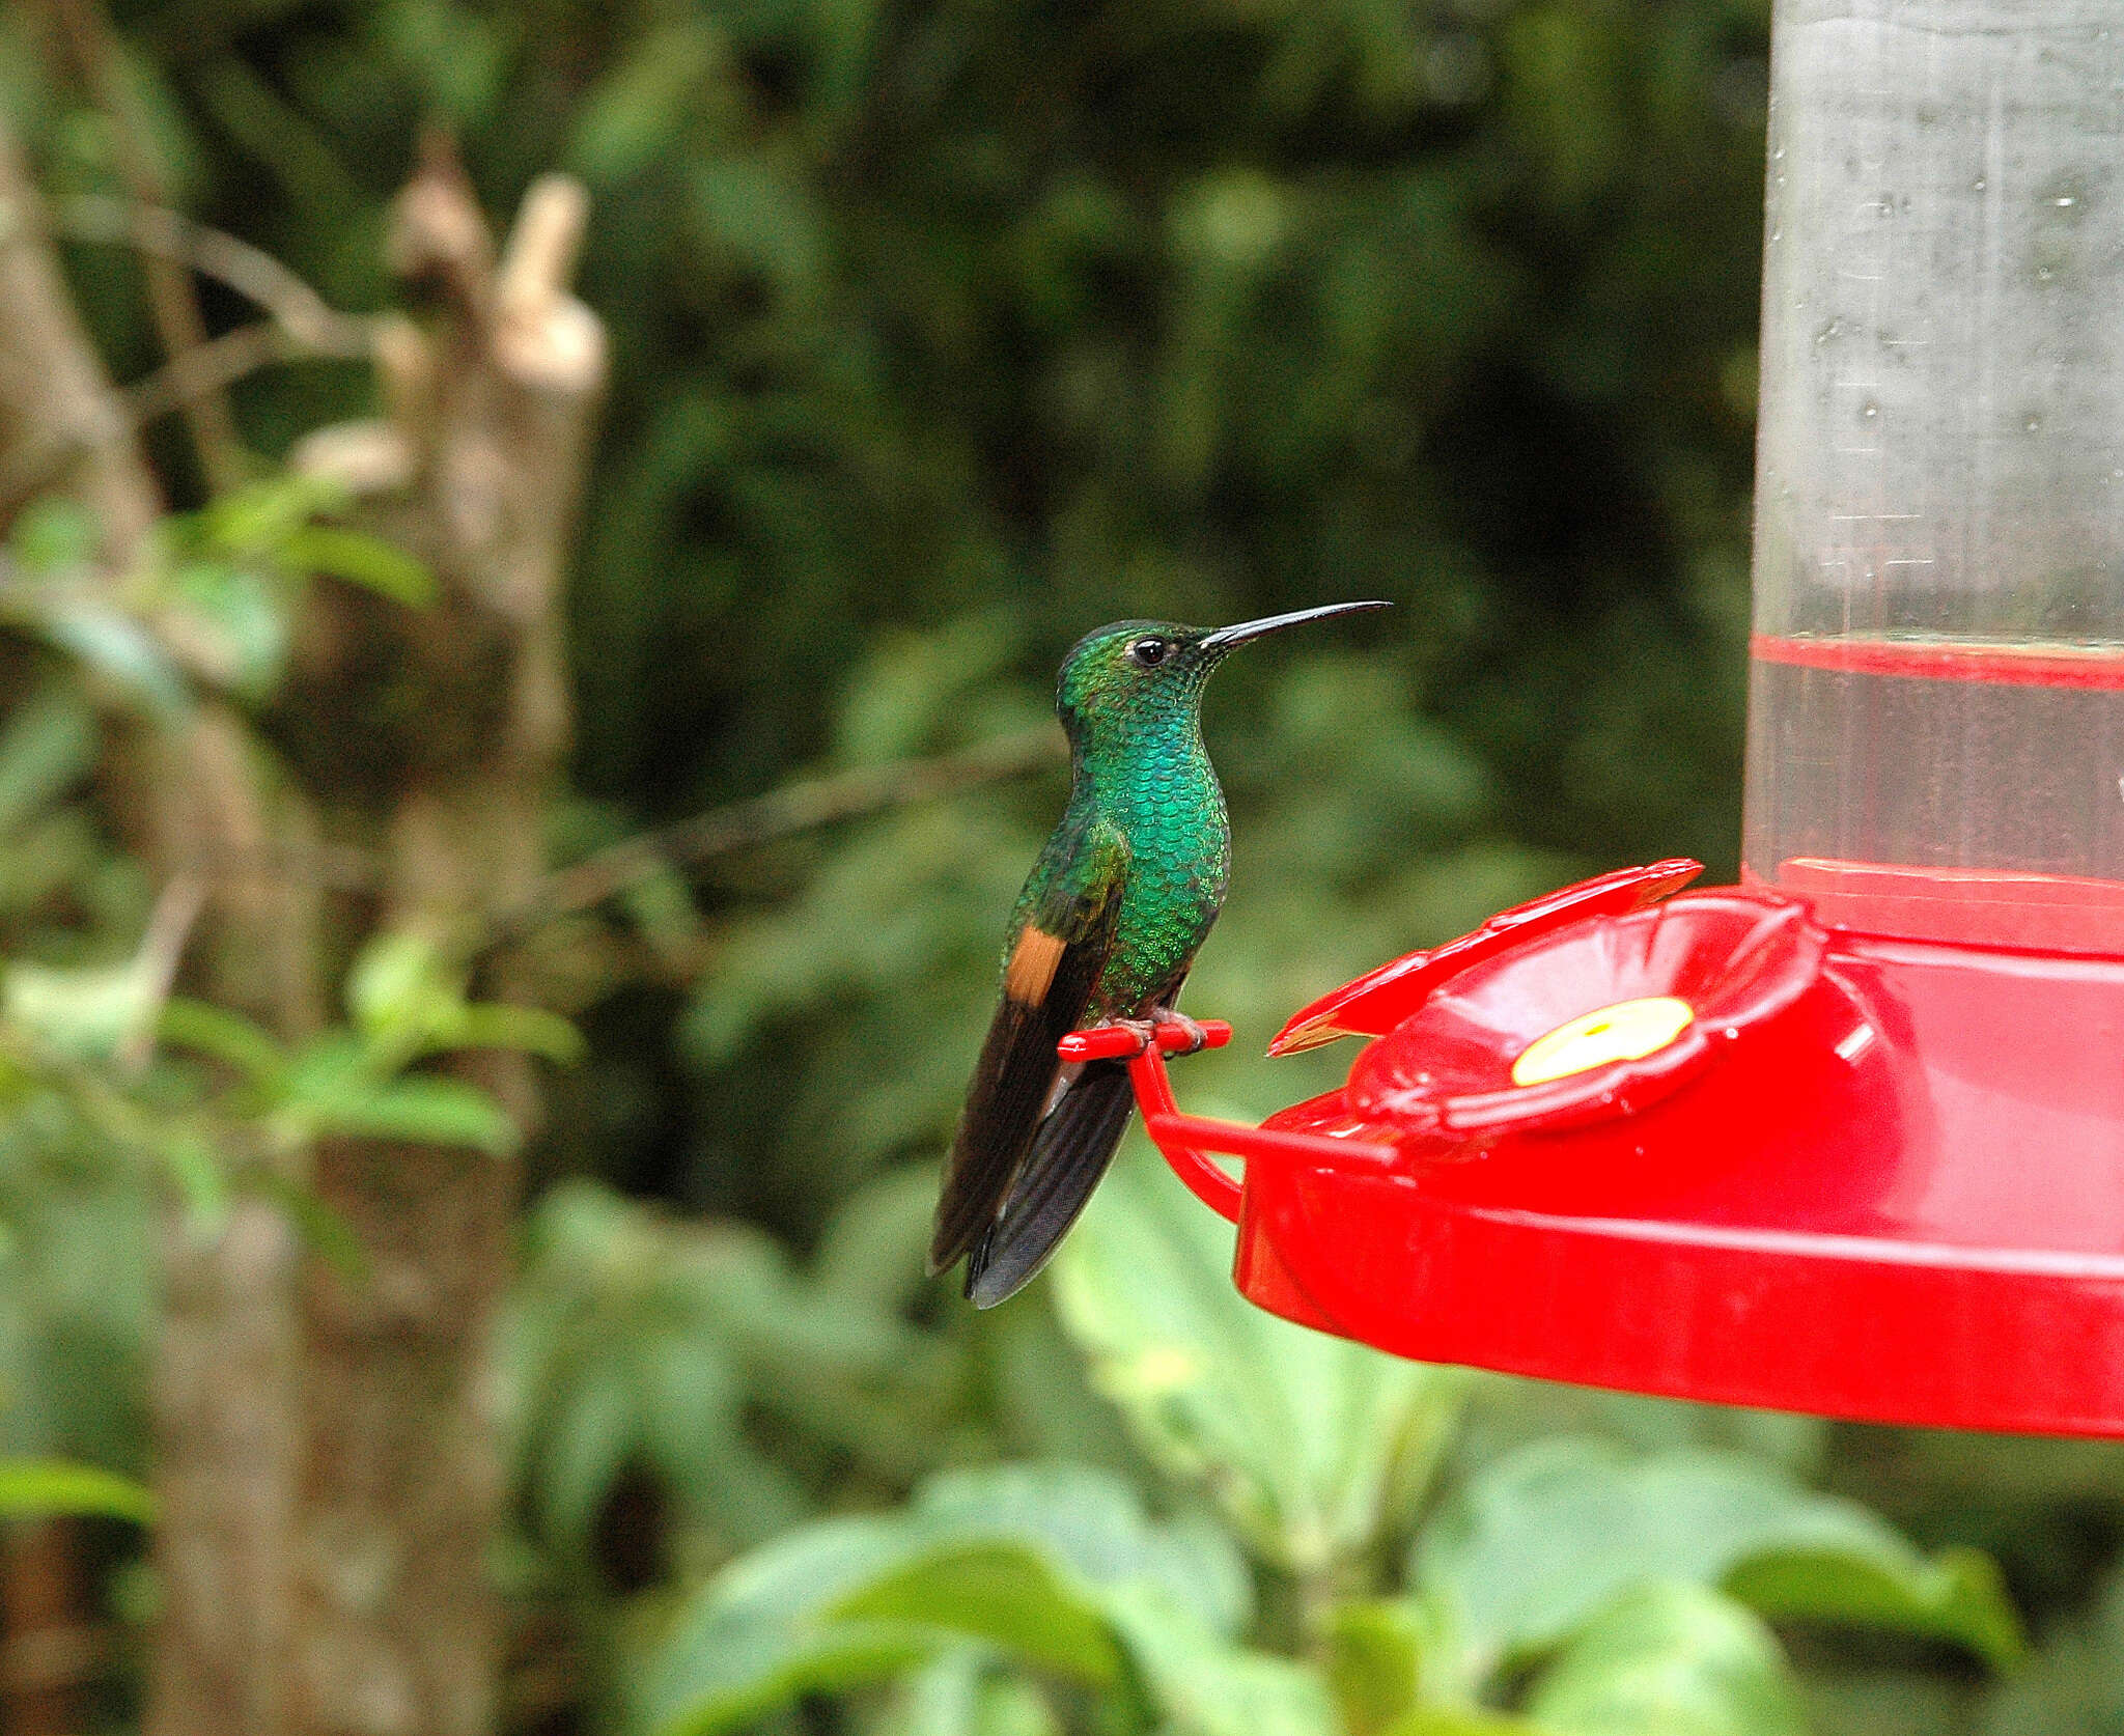
<path fill-rule="evenodd" d="M 1209 752 L 1189 737 L 1145 744 L 1100 790 L 1128 837 L 1128 882 L 1113 952 L 1092 988 L 1098 1018 L 1132 1018 L 1166 994 L 1223 905 L 1232 824 Z"/>

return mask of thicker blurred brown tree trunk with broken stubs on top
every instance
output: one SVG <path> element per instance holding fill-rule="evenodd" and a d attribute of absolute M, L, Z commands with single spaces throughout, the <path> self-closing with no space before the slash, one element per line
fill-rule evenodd
<path fill-rule="evenodd" d="M 546 871 L 567 748 L 563 574 L 603 385 L 603 334 L 565 293 L 582 217 L 573 183 L 539 183 L 489 268 L 463 176 L 431 155 L 399 198 L 393 253 L 444 285 L 446 325 L 387 346 L 389 429 L 327 429 L 302 455 L 348 482 L 410 472 L 410 499 L 376 510 L 442 580 L 442 601 L 410 629 L 423 729 L 387 816 L 393 924 L 461 929 L 525 903 Z M 510 984 L 484 988 L 506 997 Z M 531 1124 L 520 1058 L 463 1071 Z M 306 1288 L 297 1728 L 476 1736 L 495 1723 L 501 1649 L 489 1555 L 506 1479 L 489 1354 L 516 1171 L 472 1152 L 336 1145 L 316 1186 L 372 1275 L 355 1286 L 312 1266 Z"/>

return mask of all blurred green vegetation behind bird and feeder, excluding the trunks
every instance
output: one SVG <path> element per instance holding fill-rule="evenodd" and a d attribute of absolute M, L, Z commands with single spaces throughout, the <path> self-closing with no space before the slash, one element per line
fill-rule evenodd
<path fill-rule="evenodd" d="M 1024 737 L 1092 625 L 1395 601 L 1211 695 L 1236 884 L 1189 1001 L 1240 1043 L 1187 1065 L 1192 1107 L 1332 1086 L 1347 1052 L 1251 1056 L 1500 905 L 1733 873 L 1765 57 L 1759 0 L 0 13 L 0 113 L 119 382 L 168 385 L 142 193 L 338 314 L 448 327 L 393 274 L 433 140 L 497 223 L 580 178 L 610 387 L 542 848 L 595 880 L 722 816 L 610 897 L 503 912 L 514 971 L 340 909 L 314 969 L 344 1011 L 289 1028 L 172 956 L 127 744 L 225 705 L 327 816 L 276 873 L 387 831 L 442 712 L 389 659 L 327 691 L 310 652 L 457 580 L 293 463 L 391 408 L 365 340 L 255 357 L 234 463 L 136 391 L 147 555 L 0 467 L 0 1504 L 89 1515 L 8 1534 L 13 1728 L 2124 1730 L 2109 1447 L 1395 1364 L 1247 1311 L 1141 1150 L 1024 1300 L 977 1317 L 920 1275 L 1064 788 Z M 193 285 L 208 334 L 253 317 L 225 276 Z M 520 1150 L 529 1099 L 431 1060 L 465 1048 L 546 1056 Z M 157 1657 L 189 1581 L 138 1524 L 140 1483 L 202 1524 L 153 1422 L 157 1224 L 215 1243 L 266 1198 L 359 1292 L 374 1226 L 306 1156 L 336 1139 L 518 1198 L 465 1411 L 510 1466 L 503 1521 L 467 1509 L 493 1683 L 187 1723 Z"/>

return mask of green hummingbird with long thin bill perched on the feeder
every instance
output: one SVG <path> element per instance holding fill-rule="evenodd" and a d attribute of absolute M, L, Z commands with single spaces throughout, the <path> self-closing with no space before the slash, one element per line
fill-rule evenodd
<path fill-rule="evenodd" d="M 1134 1096 L 1126 1060 L 1062 1062 L 1056 1043 L 1094 1024 L 1143 1041 L 1177 1020 L 1196 950 L 1223 907 L 1232 824 L 1202 746 L 1202 684 L 1238 646 L 1325 608 L 1204 631 L 1115 620 L 1062 661 L 1056 716 L 1070 795 L 1011 909 L 1003 997 L 952 1141 L 928 1269 L 964 1256 L 966 1296 L 1022 1290 L 1077 1222 L 1121 1143 Z"/>

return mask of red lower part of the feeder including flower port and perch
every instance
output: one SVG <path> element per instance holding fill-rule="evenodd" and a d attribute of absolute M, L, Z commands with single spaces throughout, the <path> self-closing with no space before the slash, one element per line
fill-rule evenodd
<path fill-rule="evenodd" d="M 1827 892 L 2124 905 L 1818 867 Z M 1238 1224 L 1238 1288 L 1427 1362 L 2124 1434 L 2124 956 L 1884 937 L 1846 922 L 1875 905 L 1782 886 L 1657 903 L 1693 873 L 1601 875 L 1321 997 L 1277 1052 L 1378 1041 L 1260 1128 L 1183 1116 L 1164 1052 L 1189 1039 L 1160 1028 L 1136 1096 Z"/>

